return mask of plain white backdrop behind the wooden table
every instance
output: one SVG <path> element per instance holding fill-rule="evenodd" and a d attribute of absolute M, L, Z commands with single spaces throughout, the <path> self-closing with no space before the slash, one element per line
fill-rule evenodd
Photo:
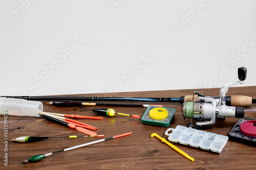
<path fill-rule="evenodd" d="M 256 1 L 0 1 L 1 95 L 256 85 Z"/>

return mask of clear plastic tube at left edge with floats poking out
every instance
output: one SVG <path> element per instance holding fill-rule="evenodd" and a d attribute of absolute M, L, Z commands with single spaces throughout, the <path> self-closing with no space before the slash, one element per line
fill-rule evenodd
<path fill-rule="evenodd" d="M 2 115 L 39 117 L 38 110 L 42 111 L 42 109 L 41 102 L 0 97 L 0 114 Z"/>

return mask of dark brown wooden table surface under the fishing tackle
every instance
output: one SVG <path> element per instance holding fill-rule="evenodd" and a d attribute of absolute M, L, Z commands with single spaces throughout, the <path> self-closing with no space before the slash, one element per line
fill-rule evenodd
<path fill-rule="evenodd" d="M 166 91 L 120 92 L 76 94 L 66 96 L 131 96 L 131 97 L 180 97 L 192 95 L 194 91 L 204 95 L 218 96 L 219 88 L 213 89 L 188 89 Z M 247 95 L 256 99 L 256 86 L 231 87 L 226 95 Z M 98 116 L 90 111 L 81 111 L 80 108 L 99 108 L 98 106 L 84 107 L 55 107 L 48 105 L 49 101 L 41 101 L 44 111 L 62 114 L 79 114 Z M 112 102 L 113 103 L 113 102 Z M 130 102 L 131 103 L 131 102 Z M 139 102 L 134 102 L 140 104 Z M 144 103 L 150 104 L 150 103 Z M 151 103 L 160 104 L 160 103 Z M 182 105 L 179 103 L 161 103 L 164 107 L 176 109 L 175 116 L 168 128 L 177 125 L 186 126 L 190 119 L 182 117 Z M 101 107 L 108 108 L 108 107 Z M 136 114 L 142 116 L 146 108 L 111 107 L 117 112 Z M 256 109 L 252 104 L 246 109 Z M 246 112 L 246 117 L 256 118 L 256 112 Z M 114 117 L 100 116 L 103 120 L 83 119 L 81 122 L 98 128 L 98 134 L 111 137 L 127 132 L 132 135 L 104 142 L 88 145 L 72 151 L 58 153 L 42 159 L 36 163 L 19 164 L 19 162 L 37 154 L 47 154 L 61 149 L 73 147 L 82 143 L 102 139 L 102 137 L 60 138 L 47 139 L 33 143 L 15 143 L 8 141 L 8 151 L 5 150 L 4 116 L 1 116 L 1 164 L 0 169 L 255 169 L 256 147 L 240 142 L 228 140 L 220 154 L 205 151 L 186 145 L 173 143 L 179 149 L 195 159 L 194 162 L 186 159 L 152 133 L 157 133 L 167 139 L 164 132 L 166 127 L 143 125 L 141 119 L 129 116 L 115 115 Z M 227 117 L 224 122 L 216 121 L 216 125 L 204 131 L 228 136 L 231 128 L 238 118 Z M 49 122 L 42 117 L 8 116 L 8 138 L 19 136 L 70 136 L 83 135 L 74 129 Z M 8 166 L 4 165 L 5 153 L 8 153 Z"/>

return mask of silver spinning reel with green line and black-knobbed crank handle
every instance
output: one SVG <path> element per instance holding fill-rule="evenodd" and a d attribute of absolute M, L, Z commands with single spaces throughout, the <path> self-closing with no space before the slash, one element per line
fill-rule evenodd
<path fill-rule="evenodd" d="M 196 126 L 188 124 L 187 127 L 199 129 L 203 126 L 215 125 L 216 117 L 218 120 L 222 121 L 225 120 L 225 117 L 244 117 L 244 107 L 227 106 L 225 94 L 228 92 L 229 87 L 237 84 L 244 84 L 246 74 L 247 69 L 245 67 L 238 68 L 238 78 L 240 81 L 223 86 L 220 89 L 219 99 L 215 99 L 211 96 L 204 96 L 203 94 L 195 91 L 194 94 L 198 94 L 198 99 L 200 100 L 183 103 L 182 116 L 184 119 L 193 118 L 195 121 L 199 122 L 196 123 Z"/>

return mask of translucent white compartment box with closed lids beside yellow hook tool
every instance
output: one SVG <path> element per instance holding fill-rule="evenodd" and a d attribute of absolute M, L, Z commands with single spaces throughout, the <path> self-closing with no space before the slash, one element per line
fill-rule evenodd
<path fill-rule="evenodd" d="M 173 132 L 168 133 L 170 130 L 173 130 Z M 169 136 L 169 141 L 216 153 L 221 153 L 228 140 L 228 136 L 187 128 L 180 125 L 175 129 L 167 129 L 165 135 Z"/>

